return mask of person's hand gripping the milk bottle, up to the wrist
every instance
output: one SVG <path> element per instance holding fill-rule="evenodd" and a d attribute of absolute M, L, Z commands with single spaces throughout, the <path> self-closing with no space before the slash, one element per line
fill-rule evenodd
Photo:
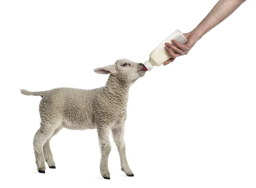
<path fill-rule="evenodd" d="M 189 33 L 184 33 L 183 35 L 188 40 L 184 45 L 178 43 L 176 40 L 172 40 L 172 43 L 174 45 L 170 43 L 165 43 L 165 50 L 167 51 L 168 54 L 171 55 L 172 58 L 163 63 L 163 65 L 168 65 L 169 63 L 172 63 L 176 57 L 188 54 L 189 50 L 201 38 L 198 36 L 198 34 L 196 34 L 193 31 Z"/>

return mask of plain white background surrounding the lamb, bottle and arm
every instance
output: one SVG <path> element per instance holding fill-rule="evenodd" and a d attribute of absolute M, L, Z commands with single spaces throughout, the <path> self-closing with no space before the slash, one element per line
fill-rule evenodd
<path fill-rule="evenodd" d="M 176 29 L 191 31 L 217 0 L 2 0 L 0 187 L 256 187 L 255 6 L 248 0 L 168 66 L 130 89 L 125 141 L 134 177 L 99 172 L 96 130 L 52 139 L 56 169 L 36 170 L 32 140 L 41 97 L 19 88 L 96 88 L 94 68 L 144 63 Z M 150 102 L 149 102 L 150 101 Z"/>

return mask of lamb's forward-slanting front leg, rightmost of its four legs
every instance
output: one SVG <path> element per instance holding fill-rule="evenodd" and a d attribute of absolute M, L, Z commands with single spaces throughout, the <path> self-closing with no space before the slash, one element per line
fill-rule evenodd
<path fill-rule="evenodd" d="M 113 138 L 116 143 L 116 147 L 119 152 L 120 160 L 121 160 L 121 170 L 129 177 L 133 177 L 134 174 L 131 171 L 125 154 L 125 140 L 124 140 L 124 133 L 125 133 L 125 125 L 120 125 L 117 128 L 112 129 Z"/>

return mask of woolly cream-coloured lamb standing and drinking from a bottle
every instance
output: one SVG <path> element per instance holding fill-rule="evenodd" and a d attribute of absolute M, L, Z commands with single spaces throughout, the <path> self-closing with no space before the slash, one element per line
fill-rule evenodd
<path fill-rule="evenodd" d="M 35 162 L 39 173 L 45 173 L 45 163 L 55 168 L 50 140 L 62 128 L 73 130 L 97 129 L 101 149 L 100 173 L 110 179 L 108 156 L 111 151 L 109 131 L 119 151 L 121 170 L 133 177 L 125 154 L 125 120 L 130 86 L 145 75 L 142 63 L 128 59 L 116 60 L 113 65 L 94 69 L 99 74 L 110 74 L 105 87 L 91 90 L 55 88 L 31 92 L 20 89 L 24 95 L 41 96 L 39 112 L 41 126 L 33 140 Z"/>

